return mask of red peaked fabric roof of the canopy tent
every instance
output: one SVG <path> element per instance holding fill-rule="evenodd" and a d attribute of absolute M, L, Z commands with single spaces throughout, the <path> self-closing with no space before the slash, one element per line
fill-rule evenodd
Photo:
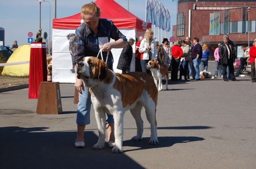
<path fill-rule="evenodd" d="M 151 23 L 133 15 L 114 0 L 96 0 L 95 4 L 101 9 L 100 18 L 111 19 L 117 28 L 148 29 Z M 53 19 L 53 29 L 76 29 L 81 25 L 81 14 L 65 18 Z"/>

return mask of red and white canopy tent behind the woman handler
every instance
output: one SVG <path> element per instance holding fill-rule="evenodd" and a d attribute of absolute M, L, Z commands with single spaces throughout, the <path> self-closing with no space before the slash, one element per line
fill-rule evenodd
<path fill-rule="evenodd" d="M 151 23 L 146 23 L 136 17 L 114 0 L 96 0 L 95 4 L 101 9 L 100 18 L 111 19 L 114 25 L 126 36 L 127 39 L 144 35 L 145 30 L 151 28 Z M 67 35 L 75 33 L 75 29 L 83 23 L 81 14 L 65 18 L 53 19 L 53 36 L 52 36 L 52 58 L 53 58 L 53 81 L 60 83 L 75 83 L 75 75 L 71 73 L 72 60 L 69 51 L 69 40 Z M 113 40 L 113 39 L 111 39 Z M 135 45 L 133 46 L 135 51 Z M 113 69 L 116 69 L 119 56 L 122 49 L 112 49 L 114 57 Z M 131 63 L 131 71 L 135 70 L 134 56 Z"/>

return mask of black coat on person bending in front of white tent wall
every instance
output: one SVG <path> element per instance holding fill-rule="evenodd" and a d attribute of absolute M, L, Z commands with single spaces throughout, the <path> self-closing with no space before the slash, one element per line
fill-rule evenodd
<path fill-rule="evenodd" d="M 124 47 L 124 49 L 121 52 L 121 55 L 117 63 L 117 69 L 130 72 L 130 63 L 132 62 L 132 56 L 132 46 L 128 44 L 126 47 Z"/>

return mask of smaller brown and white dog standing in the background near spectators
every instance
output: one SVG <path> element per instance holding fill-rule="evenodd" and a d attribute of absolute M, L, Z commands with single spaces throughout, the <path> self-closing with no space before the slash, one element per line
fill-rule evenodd
<path fill-rule="evenodd" d="M 152 72 L 152 76 L 155 80 L 156 87 L 158 86 L 158 91 L 162 90 L 162 79 L 166 79 L 166 90 L 168 90 L 168 80 L 169 80 L 169 68 L 165 64 L 160 65 L 156 61 L 149 61 L 146 63 L 146 69 Z M 158 85 L 157 85 L 157 81 Z"/>

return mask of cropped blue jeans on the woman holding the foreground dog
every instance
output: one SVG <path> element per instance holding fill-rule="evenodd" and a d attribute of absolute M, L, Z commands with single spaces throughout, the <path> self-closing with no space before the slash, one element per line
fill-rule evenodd
<path fill-rule="evenodd" d="M 78 110 L 76 112 L 76 123 L 80 125 L 90 124 L 91 94 L 89 88 L 84 87 L 82 94 L 79 93 Z M 114 123 L 112 115 L 106 113 L 106 123 Z"/>

